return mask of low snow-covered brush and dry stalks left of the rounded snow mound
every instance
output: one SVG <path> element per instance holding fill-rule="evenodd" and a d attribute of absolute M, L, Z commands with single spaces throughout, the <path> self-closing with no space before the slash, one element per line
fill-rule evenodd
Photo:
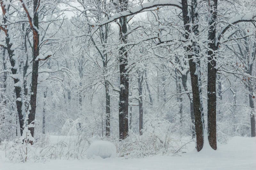
<path fill-rule="evenodd" d="M 5 140 L 0 144 L 0 150 L 12 162 L 44 162 L 49 159 L 81 159 L 89 147 L 87 138 L 80 135 L 67 136 L 57 142 L 51 142 L 47 136 L 42 137 L 34 145 L 21 144 L 20 140 Z"/>

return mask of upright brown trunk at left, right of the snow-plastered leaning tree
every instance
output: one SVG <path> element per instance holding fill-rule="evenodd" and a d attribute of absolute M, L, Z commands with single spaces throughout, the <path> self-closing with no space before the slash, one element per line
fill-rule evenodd
<path fill-rule="evenodd" d="M 34 0 L 34 18 L 33 24 L 36 28 L 32 28 L 33 31 L 33 65 L 32 65 L 32 80 L 31 80 L 31 96 L 30 96 L 30 106 L 28 115 L 28 124 L 31 127 L 28 128 L 32 137 L 34 137 L 35 130 L 35 117 L 36 117 L 36 95 L 37 95 L 37 80 L 38 80 L 38 65 L 39 60 L 36 60 L 36 57 L 39 55 L 39 32 L 38 32 L 38 13 L 36 11 L 38 5 L 38 0 Z M 31 142 L 32 144 L 32 142 Z"/>

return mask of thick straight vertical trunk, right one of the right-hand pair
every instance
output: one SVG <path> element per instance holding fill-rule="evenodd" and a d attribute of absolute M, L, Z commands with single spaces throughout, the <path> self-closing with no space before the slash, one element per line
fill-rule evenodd
<path fill-rule="evenodd" d="M 209 19 L 209 31 L 208 31 L 208 81 L 207 81 L 207 123 L 208 123 L 208 141 L 212 149 L 217 149 L 216 138 L 216 56 L 215 51 L 217 46 L 215 45 L 216 38 L 216 19 L 217 19 L 217 3 L 218 0 L 210 1 L 210 19 Z"/>

